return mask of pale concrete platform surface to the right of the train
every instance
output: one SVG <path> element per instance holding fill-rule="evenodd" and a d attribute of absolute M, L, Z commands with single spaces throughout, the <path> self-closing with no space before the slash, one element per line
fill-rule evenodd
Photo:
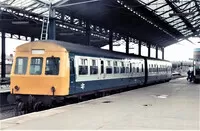
<path fill-rule="evenodd" d="M 185 78 L 1 120 L 1 130 L 200 130 L 200 85 Z M 110 103 L 103 103 L 110 101 Z"/>

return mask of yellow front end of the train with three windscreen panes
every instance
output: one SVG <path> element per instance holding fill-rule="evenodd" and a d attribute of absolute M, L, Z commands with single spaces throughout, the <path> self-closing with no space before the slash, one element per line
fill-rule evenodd
<path fill-rule="evenodd" d="M 65 48 L 49 42 L 17 47 L 10 77 L 11 94 L 68 95 L 68 55 Z"/>

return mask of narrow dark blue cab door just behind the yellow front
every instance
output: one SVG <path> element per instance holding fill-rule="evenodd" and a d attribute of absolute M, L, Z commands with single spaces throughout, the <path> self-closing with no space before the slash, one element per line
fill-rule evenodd
<path fill-rule="evenodd" d="M 75 81 L 75 66 L 74 66 L 74 57 L 70 57 L 70 91 L 71 93 L 75 92 L 76 81 Z"/>

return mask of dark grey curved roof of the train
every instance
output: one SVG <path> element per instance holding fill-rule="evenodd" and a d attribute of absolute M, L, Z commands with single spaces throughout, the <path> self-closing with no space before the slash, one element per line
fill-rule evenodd
<path fill-rule="evenodd" d="M 98 57 L 108 57 L 108 58 L 138 58 L 138 59 L 151 59 L 151 60 L 159 60 L 159 61 L 166 61 L 161 59 L 155 59 L 155 58 L 148 58 L 145 56 L 137 56 L 134 54 L 125 54 L 121 52 L 115 52 L 115 51 L 109 51 L 105 49 L 100 49 L 93 46 L 85 46 L 80 44 L 74 44 L 70 42 L 63 42 L 63 41 L 57 41 L 57 40 L 44 40 L 44 41 L 37 41 L 37 42 L 50 42 L 55 43 L 63 48 L 65 48 L 67 51 L 76 53 L 76 54 L 83 54 L 83 55 L 91 55 L 91 56 L 98 56 Z M 169 62 L 169 61 L 166 61 Z"/>

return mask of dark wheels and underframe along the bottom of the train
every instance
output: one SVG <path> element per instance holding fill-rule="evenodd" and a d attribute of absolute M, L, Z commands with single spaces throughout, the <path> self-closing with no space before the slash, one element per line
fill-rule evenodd
<path fill-rule="evenodd" d="M 66 95 L 66 96 L 9 94 L 7 97 L 7 101 L 10 104 L 13 104 L 13 103 L 16 104 L 17 114 L 19 114 L 19 112 L 29 113 L 29 112 L 40 111 L 43 109 L 48 109 L 48 108 L 56 107 L 58 105 L 66 104 L 69 102 L 69 99 L 71 98 L 78 102 L 83 99 L 83 96 L 94 95 L 95 97 L 102 97 L 102 96 L 106 96 L 110 94 L 111 91 L 121 92 L 126 89 L 133 89 L 133 88 L 138 88 L 141 86 L 142 85 L 138 85 L 134 87 L 120 86 L 114 89 L 107 88 L 103 90 L 94 90 L 90 92 L 83 92 L 79 94 Z"/>

